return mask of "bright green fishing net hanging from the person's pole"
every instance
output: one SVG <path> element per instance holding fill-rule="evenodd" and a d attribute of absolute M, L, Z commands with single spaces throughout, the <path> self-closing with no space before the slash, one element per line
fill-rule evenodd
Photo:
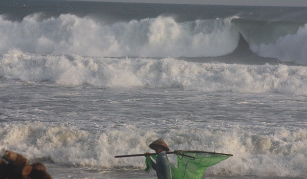
<path fill-rule="evenodd" d="M 172 179 L 201 179 L 208 167 L 222 162 L 231 156 L 206 152 L 202 153 L 201 151 L 181 151 L 181 154 L 177 154 L 177 168 L 171 166 Z M 152 158 L 156 160 L 157 155 L 152 155 Z M 150 158 L 146 156 L 145 171 L 149 172 L 150 168 Z"/>

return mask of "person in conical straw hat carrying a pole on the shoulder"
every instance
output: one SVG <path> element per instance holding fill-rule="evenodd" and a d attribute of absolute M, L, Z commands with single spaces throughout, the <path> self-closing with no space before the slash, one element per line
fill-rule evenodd
<path fill-rule="evenodd" d="M 158 179 L 171 179 L 171 169 L 166 152 L 169 151 L 167 144 L 163 139 L 153 141 L 149 147 L 158 153 L 156 163 L 151 161 L 152 168 L 156 170 Z"/>

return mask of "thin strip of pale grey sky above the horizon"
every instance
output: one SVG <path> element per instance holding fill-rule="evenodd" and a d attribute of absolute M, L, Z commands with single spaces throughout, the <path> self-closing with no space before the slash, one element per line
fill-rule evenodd
<path fill-rule="evenodd" d="M 84 0 L 83 0 L 84 1 Z M 85 0 L 89 1 L 89 0 Z M 171 4 L 207 4 L 240 6 L 304 6 L 307 0 L 91 0 L 125 3 L 171 3 Z"/>

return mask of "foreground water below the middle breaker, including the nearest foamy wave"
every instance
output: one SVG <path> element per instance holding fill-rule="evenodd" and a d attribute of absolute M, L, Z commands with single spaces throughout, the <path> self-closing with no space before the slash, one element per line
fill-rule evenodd
<path fill-rule="evenodd" d="M 73 178 L 116 178 L 127 171 L 154 178 L 142 174 L 143 158 L 114 156 L 150 151 L 148 144 L 160 137 L 171 150 L 234 154 L 209 167 L 213 178 L 299 177 L 306 171 L 303 96 L 6 84 L 2 151 L 49 161 L 56 178 L 68 176 L 62 167 Z"/>

